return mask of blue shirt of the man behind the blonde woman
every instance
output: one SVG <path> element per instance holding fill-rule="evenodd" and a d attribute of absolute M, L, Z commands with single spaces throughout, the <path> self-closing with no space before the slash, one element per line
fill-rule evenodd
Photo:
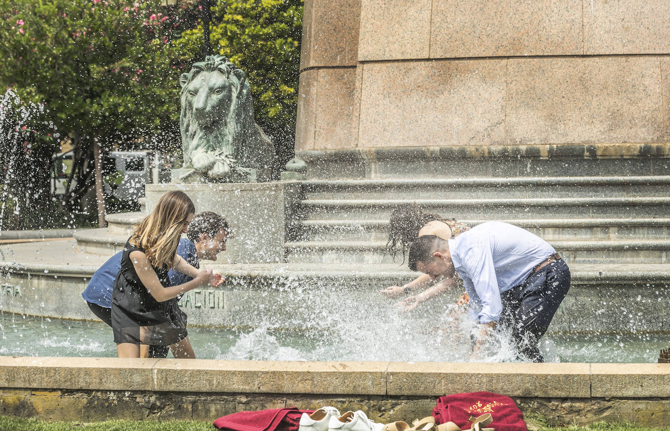
<path fill-rule="evenodd" d="M 198 252 L 196 246 L 192 241 L 186 238 L 179 240 L 179 245 L 177 247 L 177 254 L 184 258 L 188 263 L 194 267 L 199 267 L 198 263 Z M 97 271 L 93 273 L 93 276 L 90 278 L 90 281 L 86 285 L 86 289 L 82 292 L 82 297 L 88 302 L 97 304 L 101 307 L 111 308 L 112 307 L 112 291 L 114 288 L 114 280 L 117 278 L 117 273 L 121 269 L 121 256 L 123 251 L 110 257 L 107 262 L 103 263 L 103 266 L 98 268 Z M 182 274 L 178 271 L 170 269 L 167 273 L 170 275 L 170 286 L 177 286 L 178 284 L 184 284 L 193 280 L 186 274 Z"/>

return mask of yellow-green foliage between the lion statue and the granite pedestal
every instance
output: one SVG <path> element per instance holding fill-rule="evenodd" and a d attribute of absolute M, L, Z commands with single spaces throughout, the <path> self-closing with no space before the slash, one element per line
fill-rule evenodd
<path fill-rule="evenodd" d="M 227 0 L 212 5 L 210 43 L 247 72 L 256 120 L 279 153 L 292 153 L 297 109 L 302 0 Z M 202 60 L 202 25 L 175 40 L 173 62 Z M 284 158 L 291 155 L 284 154 Z"/>

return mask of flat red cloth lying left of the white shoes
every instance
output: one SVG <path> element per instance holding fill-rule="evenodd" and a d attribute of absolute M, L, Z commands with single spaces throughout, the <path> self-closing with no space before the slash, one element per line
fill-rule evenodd
<path fill-rule="evenodd" d="M 297 410 L 297 407 L 237 412 L 214 421 L 218 430 L 231 431 L 297 431 L 300 416 L 314 410 Z"/>

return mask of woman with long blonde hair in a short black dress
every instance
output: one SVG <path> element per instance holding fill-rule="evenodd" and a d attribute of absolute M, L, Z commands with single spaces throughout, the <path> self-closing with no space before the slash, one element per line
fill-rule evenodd
<path fill-rule="evenodd" d="M 223 279 L 211 268 L 196 269 L 177 254 L 195 212 L 186 193 L 169 192 L 134 227 L 112 294 L 112 328 L 120 358 L 139 357 L 140 345 L 169 346 L 176 358 L 196 357 L 178 298 L 201 286 L 218 286 Z M 167 271 L 173 268 L 194 279 L 170 286 Z"/>

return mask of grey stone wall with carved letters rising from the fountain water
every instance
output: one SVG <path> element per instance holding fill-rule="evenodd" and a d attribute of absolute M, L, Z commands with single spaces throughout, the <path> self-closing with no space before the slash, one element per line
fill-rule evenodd
<path fill-rule="evenodd" d="M 42 255 L 36 250 L 40 247 L 49 247 L 51 260 L 39 260 Z M 107 257 L 89 255 L 86 265 L 56 263 L 63 257 L 67 262 L 68 253 L 78 253 L 74 243 L 68 241 L 14 245 L 13 249 L 17 255 L 29 255 L 33 260 L 7 259 L 1 263 L 8 273 L 0 286 L 0 310 L 29 316 L 93 318 L 80 293 Z M 318 263 L 213 266 L 224 274 L 226 283 L 220 288 L 194 290 L 182 298 L 180 305 L 190 325 L 249 328 L 258 326 L 259 316 L 264 316 L 270 324 L 302 328 L 314 315 L 315 307 L 324 314 L 337 315 L 350 300 L 357 300 L 373 313 L 392 314 L 395 301 L 381 296 L 379 290 L 404 284 L 414 275 L 400 265 L 385 265 L 383 269 Z M 572 287 L 549 327 L 550 334 L 670 333 L 670 320 L 664 312 L 670 306 L 670 264 L 621 264 L 616 265 L 616 271 L 611 267 L 603 270 L 603 265 L 570 267 Z M 450 292 L 413 314 L 423 318 L 440 314 L 440 307 L 452 304 L 460 293 Z M 310 307 L 304 306 L 306 301 Z"/>

